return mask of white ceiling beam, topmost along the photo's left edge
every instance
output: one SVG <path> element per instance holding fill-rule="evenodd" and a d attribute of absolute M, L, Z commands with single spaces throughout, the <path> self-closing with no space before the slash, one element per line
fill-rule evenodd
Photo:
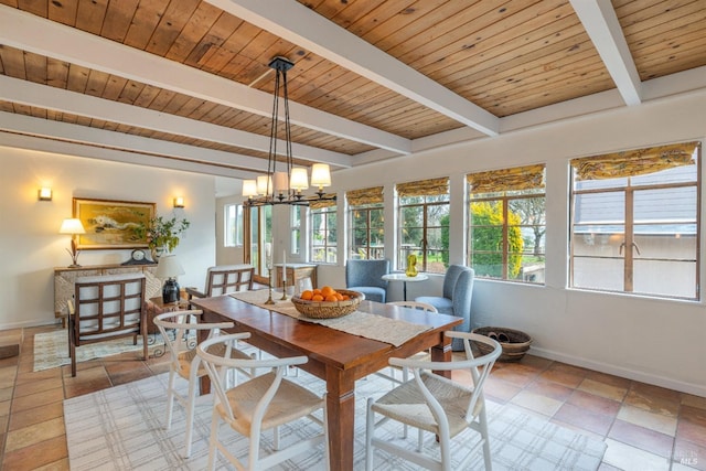
<path fill-rule="evenodd" d="M 271 116 L 270 94 L 6 6 L 0 6 L 0 43 L 259 116 Z M 410 152 L 408 139 L 312 107 L 290 101 L 290 115 L 295 125 L 399 153 Z"/>

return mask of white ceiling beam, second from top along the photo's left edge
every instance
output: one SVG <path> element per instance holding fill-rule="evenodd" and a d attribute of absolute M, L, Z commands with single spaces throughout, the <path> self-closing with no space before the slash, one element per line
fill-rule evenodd
<path fill-rule="evenodd" d="M 47 87 L 8 76 L 0 76 L 0 99 L 178 136 L 204 139 L 227 146 L 237 146 L 265 152 L 269 149 L 269 138 L 266 136 L 210 125 L 194 119 L 158 113 L 61 88 Z M 285 143 L 279 142 L 279 149 L 284 148 Z M 350 156 L 339 152 L 297 143 L 292 143 L 292 154 L 298 158 L 325 162 L 336 167 L 351 167 L 352 159 Z M 259 162 L 257 162 L 263 161 L 263 159 L 248 159 L 255 168 L 263 170 Z"/>

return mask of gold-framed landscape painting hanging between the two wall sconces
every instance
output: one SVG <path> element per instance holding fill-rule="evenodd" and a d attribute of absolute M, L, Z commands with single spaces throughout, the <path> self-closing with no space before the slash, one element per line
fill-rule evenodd
<path fill-rule="evenodd" d="M 133 228 L 154 217 L 157 203 L 81 197 L 73 202 L 74 217 L 86 229 L 76 236 L 79 250 L 148 247 L 147 238 L 138 238 Z"/>

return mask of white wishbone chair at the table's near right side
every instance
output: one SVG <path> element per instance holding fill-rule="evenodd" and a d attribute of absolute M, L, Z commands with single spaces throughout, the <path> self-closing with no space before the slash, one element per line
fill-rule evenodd
<path fill-rule="evenodd" d="M 430 470 L 451 471 L 468 469 L 468 461 L 474 453 L 461 457 L 460 462 L 451 462 L 451 440 L 468 429 L 480 433 L 478 447 L 483 449 L 485 469 L 492 468 L 488 435 L 488 417 L 483 386 L 485 379 L 502 353 L 500 343 L 484 335 L 470 332 L 445 332 L 447 336 L 463 342 L 466 360 L 451 362 L 427 362 L 411 358 L 389 358 L 389 364 L 409 368 L 414 379 L 397 386 L 378 399 L 367 399 L 367 419 L 365 435 L 365 470 L 373 470 L 374 450 L 381 449 Z M 474 357 L 471 341 L 492 347 L 491 353 Z M 467 370 L 471 372 L 471 387 L 432 373 L 432 371 Z M 376 420 L 376 415 L 382 416 Z M 388 421 L 420 430 L 416 448 L 406 442 L 396 442 L 389 438 L 376 437 L 375 431 Z M 425 453 L 422 437 L 428 431 L 438 440 L 439 457 Z M 468 440 L 458 437 L 459 440 Z"/>

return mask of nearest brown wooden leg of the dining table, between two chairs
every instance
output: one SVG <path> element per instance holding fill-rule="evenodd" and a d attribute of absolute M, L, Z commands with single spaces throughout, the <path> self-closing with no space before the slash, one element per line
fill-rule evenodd
<path fill-rule="evenodd" d="M 327 414 L 331 470 L 353 470 L 355 379 L 351 372 L 327 368 Z"/>

